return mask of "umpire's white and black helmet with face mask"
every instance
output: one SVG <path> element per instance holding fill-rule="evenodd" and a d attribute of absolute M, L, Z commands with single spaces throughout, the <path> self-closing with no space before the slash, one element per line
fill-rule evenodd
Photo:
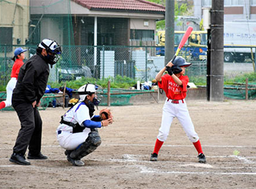
<path fill-rule="evenodd" d="M 46 49 L 46 60 L 50 65 L 55 65 L 55 63 L 57 63 L 60 59 L 61 48 L 56 41 L 44 39 L 41 43 L 39 43 L 38 47 Z M 49 53 L 51 53 L 51 55 Z"/>

